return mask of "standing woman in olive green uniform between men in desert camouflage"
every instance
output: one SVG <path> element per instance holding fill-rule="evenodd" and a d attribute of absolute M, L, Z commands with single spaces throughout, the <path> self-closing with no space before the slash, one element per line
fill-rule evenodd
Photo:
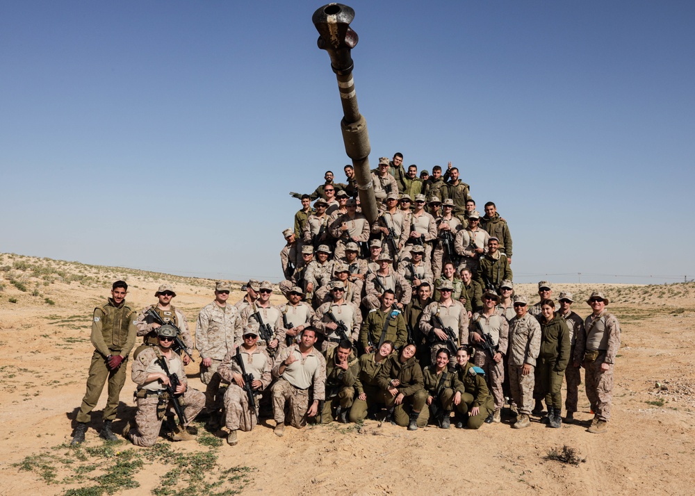
<path fill-rule="evenodd" d="M 569 329 L 564 319 L 555 314 L 555 302 L 541 302 L 541 352 L 538 355 L 536 374 L 540 377 L 540 396 L 545 397 L 548 407 L 548 424 L 562 427 L 562 378 L 569 363 Z"/>

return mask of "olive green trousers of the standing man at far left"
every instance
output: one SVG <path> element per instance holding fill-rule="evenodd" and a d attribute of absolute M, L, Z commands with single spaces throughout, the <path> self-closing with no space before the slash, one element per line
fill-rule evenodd
<path fill-rule="evenodd" d="M 97 406 L 104 383 L 108 380 L 108 399 L 104 408 L 104 420 L 114 420 L 118 408 L 118 398 L 126 382 L 126 370 L 128 369 L 128 357 L 122 361 L 116 370 L 109 370 L 106 365 L 106 357 L 94 350 L 92 363 L 89 367 L 87 378 L 87 392 L 82 399 L 82 406 L 77 414 L 77 422 L 88 423 L 92 420 L 92 410 Z"/>

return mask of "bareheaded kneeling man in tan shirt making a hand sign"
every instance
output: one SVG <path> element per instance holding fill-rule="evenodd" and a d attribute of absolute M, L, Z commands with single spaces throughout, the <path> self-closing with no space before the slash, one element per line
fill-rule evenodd
<path fill-rule="evenodd" d="M 287 403 L 290 424 L 302 429 L 307 417 L 316 417 L 318 404 L 325 399 L 326 359 L 313 347 L 316 339 L 316 329 L 307 327 L 302 331 L 299 344 L 287 347 L 275 358 L 272 375 L 277 381 L 271 388 L 275 436 L 284 435 Z M 310 393 L 313 399 L 311 406 Z"/>

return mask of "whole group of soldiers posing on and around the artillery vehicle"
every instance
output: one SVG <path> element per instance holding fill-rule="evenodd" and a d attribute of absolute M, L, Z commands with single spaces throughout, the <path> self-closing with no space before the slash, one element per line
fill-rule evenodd
<path fill-rule="evenodd" d="M 193 438 L 188 424 L 202 413 L 212 427 L 227 427 L 229 445 L 271 415 L 277 436 L 286 424 L 366 418 L 409 430 L 429 422 L 448 429 L 452 419 L 478 429 L 501 422 L 509 404 L 510 423 L 521 429 L 545 402 L 542 421 L 560 427 L 563 379 L 565 422 L 575 422 L 582 367 L 595 415 L 587 430 L 607 431 L 620 344 L 608 299 L 594 292 L 582 319 L 570 292 L 556 306 L 547 281 L 535 304 L 515 295 L 507 223 L 492 202 L 484 217 L 477 213 L 450 163 L 441 172 L 435 166 L 423 181 L 415 165 L 404 172 L 401 154 L 380 159 L 373 183 L 383 206 L 373 225 L 359 212 L 350 165 L 347 183 L 327 172 L 311 195 L 293 194 L 302 210 L 283 233 L 278 289 L 286 302 L 271 304 L 274 285 L 252 279 L 228 304 L 231 286 L 217 283 L 195 328 L 204 392 L 187 387 L 183 365 L 194 340 L 171 304 L 174 289 L 162 285 L 157 303 L 136 313 L 124 301 L 126 284 L 114 283 L 95 309 L 95 353 L 73 443 L 84 440 L 107 379 L 100 436 L 115 439 L 111 422 L 136 336 L 138 410 L 124 436 L 137 445 L 156 442 L 171 406 L 174 439 Z"/>

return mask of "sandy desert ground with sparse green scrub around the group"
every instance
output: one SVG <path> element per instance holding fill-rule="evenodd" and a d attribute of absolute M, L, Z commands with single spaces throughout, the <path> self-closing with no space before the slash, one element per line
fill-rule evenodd
<path fill-rule="evenodd" d="M 106 391 L 85 443 L 69 446 L 93 351 L 92 311 L 116 279 L 129 283 L 127 301 L 138 309 L 169 281 L 177 290 L 173 304 L 195 332 L 214 281 L 15 254 L 0 254 L 0 278 L 1 495 L 695 493 L 694 283 L 555 285 L 555 297 L 574 292 L 582 317 L 589 313 L 584 299 L 603 290 L 621 322 L 613 417 L 602 435 L 580 424 L 548 429 L 539 418 L 515 431 L 503 417 L 478 431 L 407 431 L 368 420 L 288 427 L 277 438 L 266 420 L 239 433 L 236 447 L 198 424 L 195 442 L 161 438 L 147 449 L 98 437 Z M 229 301 L 242 297 L 240 286 Z M 516 290 L 536 301 L 535 285 Z M 275 301 L 283 301 L 279 292 Z M 199 363 L 197 352 L 194 358 Z M 203 390 L 197 363 L 186 372 L 190 386 Z M 129 378 L 117 433 L 134 414 L 133 390 Z M 593 417 L 583 385 L 576 416 Z M 577 464 L 548 459 L 564 446 L 575 450 Z"/>

